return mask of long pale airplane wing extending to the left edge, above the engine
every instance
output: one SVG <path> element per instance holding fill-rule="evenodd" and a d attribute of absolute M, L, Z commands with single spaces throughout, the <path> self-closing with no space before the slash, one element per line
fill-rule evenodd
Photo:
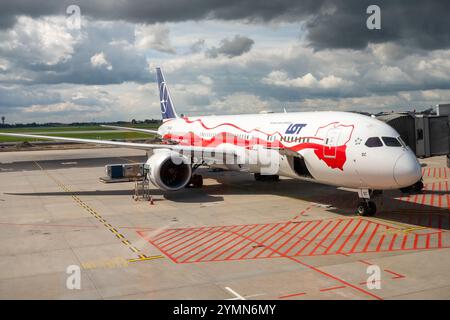
<path fill-rule="evenodd" d="M 41 136 L 35 134 L 22 134 L 22 133 L 3 133 L 0 132 L 0 136 L 8 137 L 21 137 L 21 138 L 38 138 L 46 140 L 68 141 L 77 143 L 90 143 L 90 144 L 103 144 L 116 147 L 125 147 L 138 150 L 153 150 L 153 149 L 169 149 L 180 152 L 186 156 L 190 156 L 190 153 L 195 153 L 193 156 L 200 156 L 203 158 L 205 154 L 228 154 L 235 156 L 235 152 L 232 150 L 218 150 L 214 147 L 200 147 L 200 146 L 184 146 L 177 144 L 150 144 L 150 143 L 135 143 L 135 142 L 122 142 L 122 141 L 110 141 L 110 140 L 96 140 L 96 139 L 80 139 L 80 138 L 66 138 L 66 137 L 54 137 L 54 136 Z M 205 156 L 206 157 L 206 156 Z"/>

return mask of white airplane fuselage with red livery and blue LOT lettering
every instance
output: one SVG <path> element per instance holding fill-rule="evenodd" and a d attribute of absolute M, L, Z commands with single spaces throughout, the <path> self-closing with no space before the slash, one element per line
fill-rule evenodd
<path fill-rule="evenodd" d="M 420 165 L 399 134 L 384 122 L 356 113 L 185 117 L 166 120 L 158 131 L 179 144 L 234 150 L 250 158 L 264 149 L 279 163 L 275 174 L 324 184 L 383 190 L 407 187 L 421 178 Z M 258 162 L 221 167 L 261 169 Z"/>

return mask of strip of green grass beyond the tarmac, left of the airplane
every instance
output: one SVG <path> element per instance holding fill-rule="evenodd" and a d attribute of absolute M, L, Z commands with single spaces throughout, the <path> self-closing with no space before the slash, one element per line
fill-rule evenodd
<path fill-rule="evenodd" d="M 23 133 L 22 131 L 17 131 L 17 133 Z M 92 133 L 67 133 L 67 134 L 53 134 L 58 137 L 67 137 L 67 138 L 80 138 L 80 139 L 96 139 L 96 140 L 112 140 L 112 139 L 150 139 L 153 138 L 152 134 L 145 134 L 140 132 L 98 132 L 93 131 Z M 48 134 L 48 136 L 52 136 L 52 134 Z M 20 137 L 8 137 L 8 136 L 0 136 L 0 142 L 22 142 L 22 141 L 50 141 L 47 139 L 33 139 L 33 138 L 20 138 Z"/>

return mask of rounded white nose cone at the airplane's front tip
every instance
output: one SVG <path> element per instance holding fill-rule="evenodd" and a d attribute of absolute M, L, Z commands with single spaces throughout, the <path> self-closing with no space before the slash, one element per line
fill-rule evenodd
<path fill-rule="evenodd" d="M 394 165 L 394 179 L 399 187 L 409 187 L 420 180 L 422 169 L 414 154 L 402 154 Z"/>

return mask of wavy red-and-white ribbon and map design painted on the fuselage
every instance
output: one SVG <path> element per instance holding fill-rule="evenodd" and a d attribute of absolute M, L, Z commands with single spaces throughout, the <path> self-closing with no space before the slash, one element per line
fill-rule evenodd
<path fill-rule="evenodd" d="M 251 135 L 249 139 L 245 139 L 243 135 L 236 135 L 229 132 L 219 132 L 214 136 L 208 138 L 201 137 L 194 132 L 189 132 L 183 135 L 165 134 L 163 136 L 164 139 L 178 142 L 180 145 L 200 147 L 217 147 L 221 144 L 228 143 L 246 149 L 251 149 L 255 145 L 264 146 L 266 148 L 290 149 L 295 152 L 312 149 L 317 158 L 325 162 L 328 167 L 332 169 L 340 169 L 342 171 L 344 170 L 344 164 L 347 160 L 347 143 L 350 141 L 354 129 L 354 125 L 343 125 L 339 122 L 333 122 L 319 127 L 314 136 L 301 137 L 302 142 L 289 142 L 289 140 L 286 141 L 285 139 L 283 139 L 283 135 L 278 131 L 273 133 L 266 133 L 259 129 L 245 130 L 232 123 L 221 123 L 213 127 L 208 127 L 202 122 L 201 119 L 182 119 L 188 124 L 198 122 L 206 131 L 217 129 L 221 126 L 229 126 L 245 134 L 249 134 L 251 132 L 259 132 L 267 136 L 268 138 L 277 135 L 279 139 L 268 141 L 267 139 L 262 139 Z M 336 139 L 336 142 L 333 145 L 327 145 L 329 139 L 327 138 L 327 135 L 329 134 L 330 130 L 335 130 L 336 132 L 338 132 L 338 135 L 334 137 Z"/>

